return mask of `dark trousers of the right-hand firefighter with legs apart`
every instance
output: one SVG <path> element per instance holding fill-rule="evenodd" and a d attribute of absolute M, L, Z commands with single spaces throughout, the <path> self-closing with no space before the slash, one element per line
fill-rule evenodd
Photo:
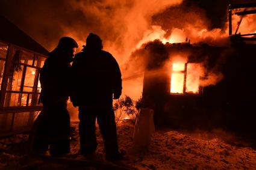
<path fill-rule="evenodd" d="M 88 109 L 84 106 L 79 108 L 79 134 L 80 150 L 82 154 L 95 152 L 97 147 L 95 122 L 104 141 L 106 157 L 116 156 L 119 153 L 116 134 L 116 122 L 112 108 Z"/>

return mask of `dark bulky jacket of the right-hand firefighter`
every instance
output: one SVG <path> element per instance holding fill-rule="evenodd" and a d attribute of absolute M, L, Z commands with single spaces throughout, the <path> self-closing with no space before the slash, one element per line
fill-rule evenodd
<path fill-rule="evenodd" d="M 112 108 L 113 94 L 122 93 L 119 65 L 111 53 L 83 49 L 72 64 L 72 94 L 74 106 Z"/>

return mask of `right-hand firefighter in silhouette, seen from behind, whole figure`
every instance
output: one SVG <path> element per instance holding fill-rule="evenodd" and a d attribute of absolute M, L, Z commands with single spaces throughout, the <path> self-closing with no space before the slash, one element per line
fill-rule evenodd
<path fill-rule="evenodd" d="M 119 65 L 111 53 L 102 50 L 102 40 L 90 33 L 86 46 L 75 55 L 72 64 L 74 106 L 79 106 L 79 133 L 81 154 L 93 154 L 97 147 L 95 121 L 104 140 L 107 160 L 122 159 L 117 144 L 113 99 L 122 93 Z M 114 97 L 113 97 L 114 96 Z"/>

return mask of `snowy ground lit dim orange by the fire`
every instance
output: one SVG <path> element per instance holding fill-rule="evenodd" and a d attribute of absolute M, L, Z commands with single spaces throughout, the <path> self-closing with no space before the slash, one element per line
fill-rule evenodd
<path fill-rule="evenodd" d="M 72 123 L 72 127 L 69 158 L 81 159 L 78 154 L 78 123 Z M 137 169 L 256 169 L 254 149 L 228 144 L 223 138 L 207 133 L 157 130 L 152 135 L 149 150 L 138 153 L 133 147 L 133 130 L 133 124 L 128 121 L 117 127 L 119 148 L 126 152 L 123 162 Z M 0 139 L 0 169 L 85 169 L 31 159 L 25 154 L 27 139 L 26 134 Z M 104 147 L 99 129 L 97 139 L 96 159 L 103 160 Z"/>

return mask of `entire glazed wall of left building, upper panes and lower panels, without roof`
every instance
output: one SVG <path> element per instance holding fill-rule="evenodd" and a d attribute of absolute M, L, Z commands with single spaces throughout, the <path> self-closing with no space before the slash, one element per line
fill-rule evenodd
<path fill-rule="evenodd" d="M 42 109 L 35 106 L 39 106 L 39 72 L 45 59 L 46 56 L 0 41 L 1 134 L 28 130 L 33 125 Z"/>

